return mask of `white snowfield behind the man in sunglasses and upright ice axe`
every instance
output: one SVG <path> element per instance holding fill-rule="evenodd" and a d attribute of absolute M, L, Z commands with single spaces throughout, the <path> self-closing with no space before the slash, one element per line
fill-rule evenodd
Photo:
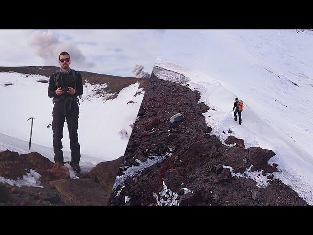
<path fill-rule="evenodd" d="M 28 151 L 31 120 L 27 119 L 34 117 L 31 151 L 38 150 L 45 157 L 51 158 L 53 133 L 52 126 L 47 126 L 52 124 L 53 104 L 47 96 L 48 84 L 38 82 L 48 79 L 35 74 L 0 72 L 0 133 L 4 134 L 0 136 L 0 150 Z M 112 94 L 99 92 L 106 86 L 107 84 L 90 84 L 87 81 L 84 84 L 78 122 L 82 161 L 110 161 L 124 154 L 132 132 L 130 125 L 135 121 L 143 98 L 144 92 L 139 88 L 139 82 L 124 87 L 113 99 L 108 99 Z M 139 94 L 135 95 L 137 92 Z M 128 103 L 129 101 L 133 102 Z M 66 123 L 63 135 L 63 150 L 70 153 Z M 9 147 L 6 145 L 9 137 L 22 141 Z M 37 148 L 38 145 L 41 147 Z"/>

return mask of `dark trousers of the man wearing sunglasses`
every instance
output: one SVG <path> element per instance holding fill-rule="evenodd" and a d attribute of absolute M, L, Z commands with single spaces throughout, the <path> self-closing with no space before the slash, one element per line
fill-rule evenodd
<path fill-rule="evenodd" d="M 68 109 L 68 104 L 71 102 L 70 110 Z M 78 143 L 78 115 L 79 108 L 78 103 L 75 101 L 67 101 L 66 106 L 65 101 L 60 100 L 54 103 L 52 111 L 52 130 L 53 130 L 53 151 L 54 151 L 54 161 L 63 163 L 63 145 L 61 139 L 63 138 L 63 126 L 65 118 L 67 118 L 67 128 L 70 140 L 70 150 L 71 150 L 71 161 L 74 163 L 79 163 L 80 160 L 80 145 Z M 66 109 L 66 110 L 65 110 Z"/>

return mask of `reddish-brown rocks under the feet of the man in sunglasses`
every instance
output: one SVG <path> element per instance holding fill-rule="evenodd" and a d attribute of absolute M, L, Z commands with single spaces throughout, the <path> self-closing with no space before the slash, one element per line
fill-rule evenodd
<path fill-rule="evenodd" d="M 0 205 L 107 205 L 120 160 L 75 177 L 39 153 L 0 152 Z"/>

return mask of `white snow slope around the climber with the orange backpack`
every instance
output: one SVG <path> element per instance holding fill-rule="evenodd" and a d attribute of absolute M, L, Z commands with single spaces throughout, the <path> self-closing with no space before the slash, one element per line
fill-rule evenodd
<path fill-rule="evenodd" d="M 155 65 L 186 76 L 189 87 L 201 92 L 211 108 L 205 117 L 213 134 L 224 140 L 230 128 L 246 147 L 272 149 L 270 163 L 281 171 L 275 177 L 313 204 L 313 33 L 206 30 L 179 38 L 187 33 L 201 53 L 185 47 L 189 57 L 163 55 L 173 63 L 158 59 Z M 245 103 L 241 126 L 232 120 L 235 97 Z"/>

